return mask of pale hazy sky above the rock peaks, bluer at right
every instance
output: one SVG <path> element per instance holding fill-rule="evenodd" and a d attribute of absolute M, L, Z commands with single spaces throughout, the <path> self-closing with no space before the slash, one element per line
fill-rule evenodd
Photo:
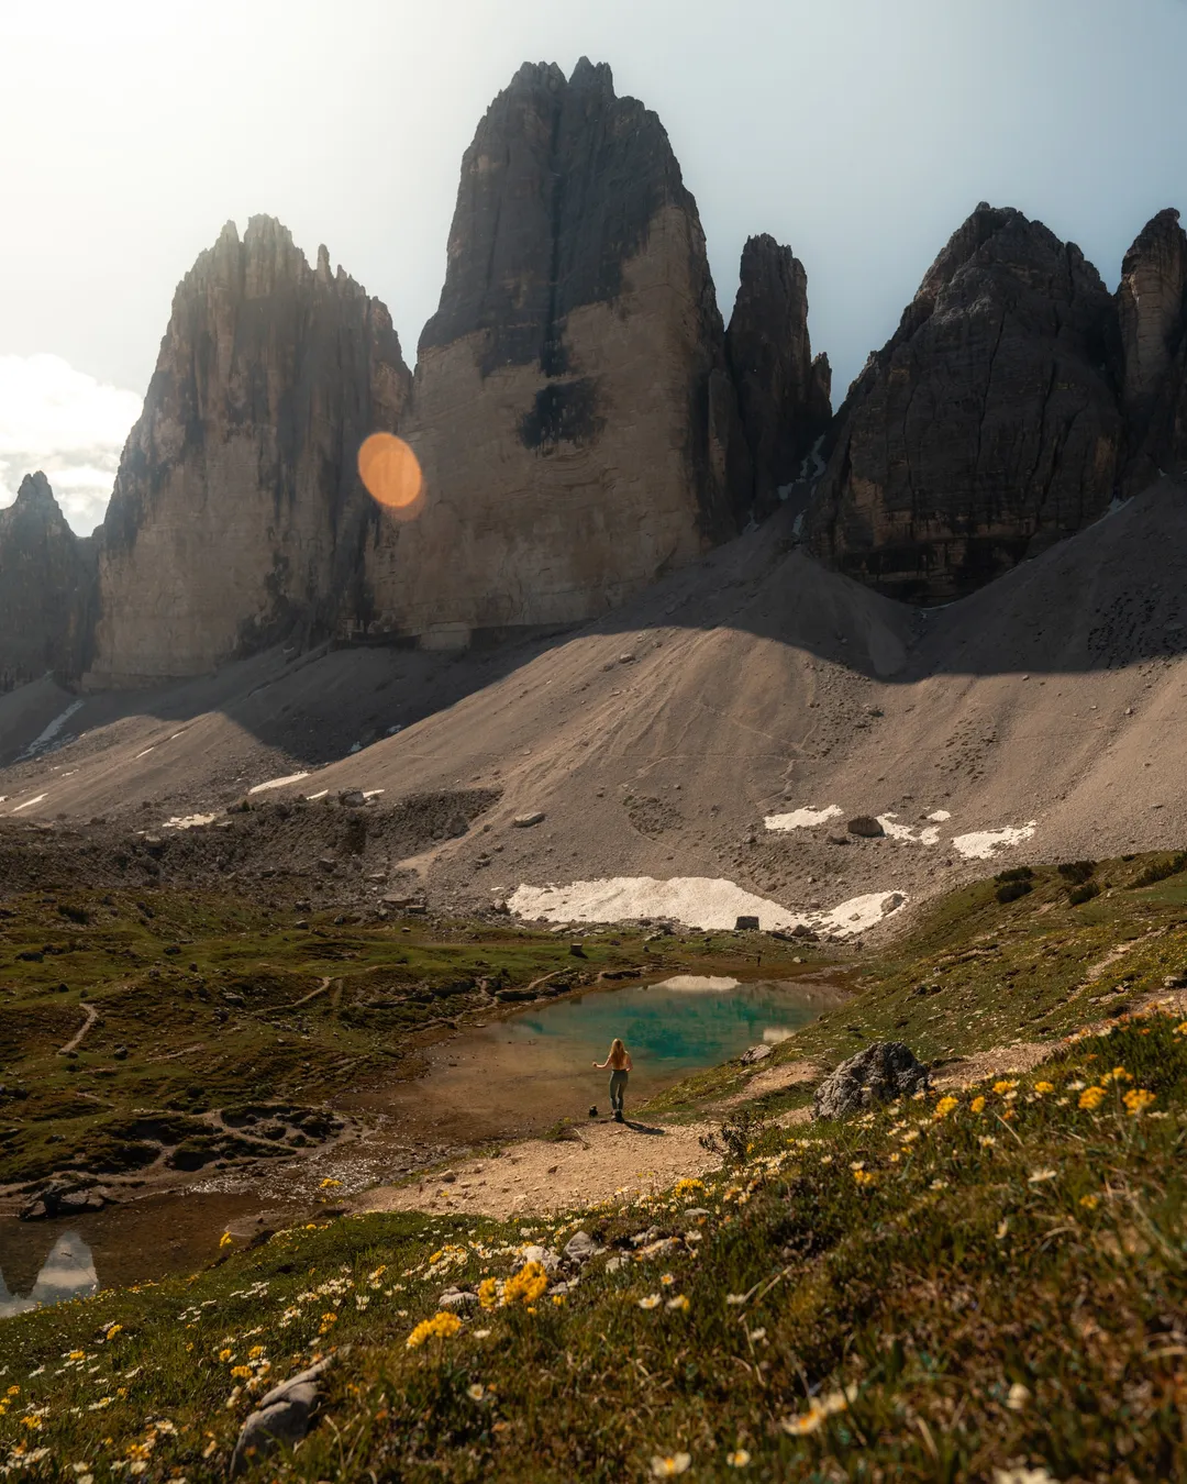
<path fill-rule="evenodd" d="M 748 234 L 803 258 L 838 401 L 979 200 L 1110 286 L 1187 214 L 1186 0 L 0 0 L 0 505 L 42 466 L 101 516 L 227 218 L 325 242 L 411 362 L 478 119 L 582 53 L 663 119 L 727 318 Z"/>

